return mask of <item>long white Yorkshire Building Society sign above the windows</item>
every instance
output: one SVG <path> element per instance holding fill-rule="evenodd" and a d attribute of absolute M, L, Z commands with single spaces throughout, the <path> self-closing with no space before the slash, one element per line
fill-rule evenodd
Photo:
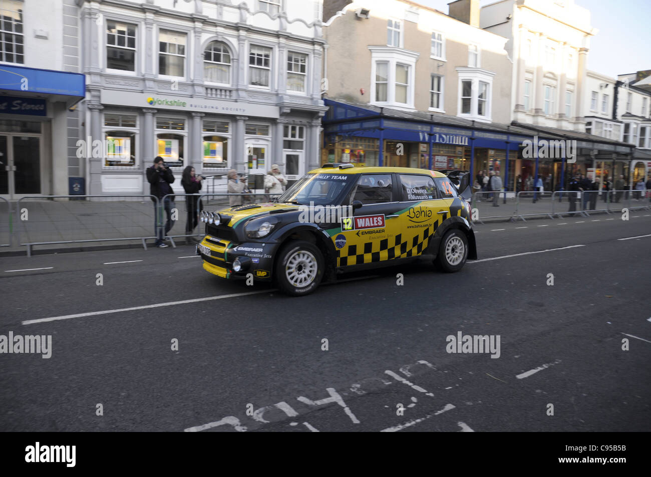
<path fill-rule="evenodd" d="M 154 95 L 139 92 L 102 90 L 102 103 L 130 107 L 174 109 L 175 111 L 201 111 L 221 115 L 245 115 L 278 118 L 277 106 L 258 103 L 189 98 L 187 96 Z"/>

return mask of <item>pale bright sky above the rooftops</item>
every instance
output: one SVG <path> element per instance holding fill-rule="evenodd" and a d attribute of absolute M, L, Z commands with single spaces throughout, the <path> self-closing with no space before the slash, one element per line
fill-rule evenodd
<path fill-rule="evenodd" d="M 447 14 L 447 4 L 452 0 L 415 1 Z M 480 0 L 482 7 L 490 3 L 495 0 Z M 599 30 L 590 40 L 589 70 L 611 77 L 651 70 L 651 48 L 646 44 L 650 0 L 575 0 L 574 3 L 590 10 L 592 26 Z"/>

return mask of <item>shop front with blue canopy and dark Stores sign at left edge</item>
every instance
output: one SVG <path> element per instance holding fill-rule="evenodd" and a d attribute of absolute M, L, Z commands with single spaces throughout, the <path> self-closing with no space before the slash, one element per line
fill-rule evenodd
<path fill-rule="evenodd" d="M 0 68 L 0 197 L 68 194 L 68 112 L 83 75 Z"/>

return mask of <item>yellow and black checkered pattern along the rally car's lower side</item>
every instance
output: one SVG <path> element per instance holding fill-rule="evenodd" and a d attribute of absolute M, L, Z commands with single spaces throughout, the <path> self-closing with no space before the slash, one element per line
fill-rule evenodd
<path fill-rule="evenodd" d="M 393 258 L 420 255 L 427 248 L 438 225 L 439 223 L 436 221 L 434 224 L 422 228 L 418 234 L 408 236 L 406 239 L 404 239 L 406 234 L 398 234 L 391 239 L 371 239 L 361 245 L 346 245 L 337 251 L 337 266 L 370 264 Z"/>

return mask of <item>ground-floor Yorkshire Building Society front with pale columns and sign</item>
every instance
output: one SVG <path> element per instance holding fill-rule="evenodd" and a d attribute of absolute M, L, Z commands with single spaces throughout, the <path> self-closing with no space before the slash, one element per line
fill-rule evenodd
<path fill-rule="evenodd" d="M 147 194 L 145 169 L 156 156 L 176 178 L 192 165 L 225 188 L 227 172 L 249 178 L 253 191 L 264 189 L 264 174 L 279 165 L 288 180 L 305 174 L 317 157 L 320 122 L 316 111 L 294 111 L 267 103 L 154 97 L 102 90 L 87 105 L 90 135 L 105 141 L 101 157 L 89 157 L 90 190 L 97 194 Z M 180 180 L 174 192 L 183 193 Z"/>

